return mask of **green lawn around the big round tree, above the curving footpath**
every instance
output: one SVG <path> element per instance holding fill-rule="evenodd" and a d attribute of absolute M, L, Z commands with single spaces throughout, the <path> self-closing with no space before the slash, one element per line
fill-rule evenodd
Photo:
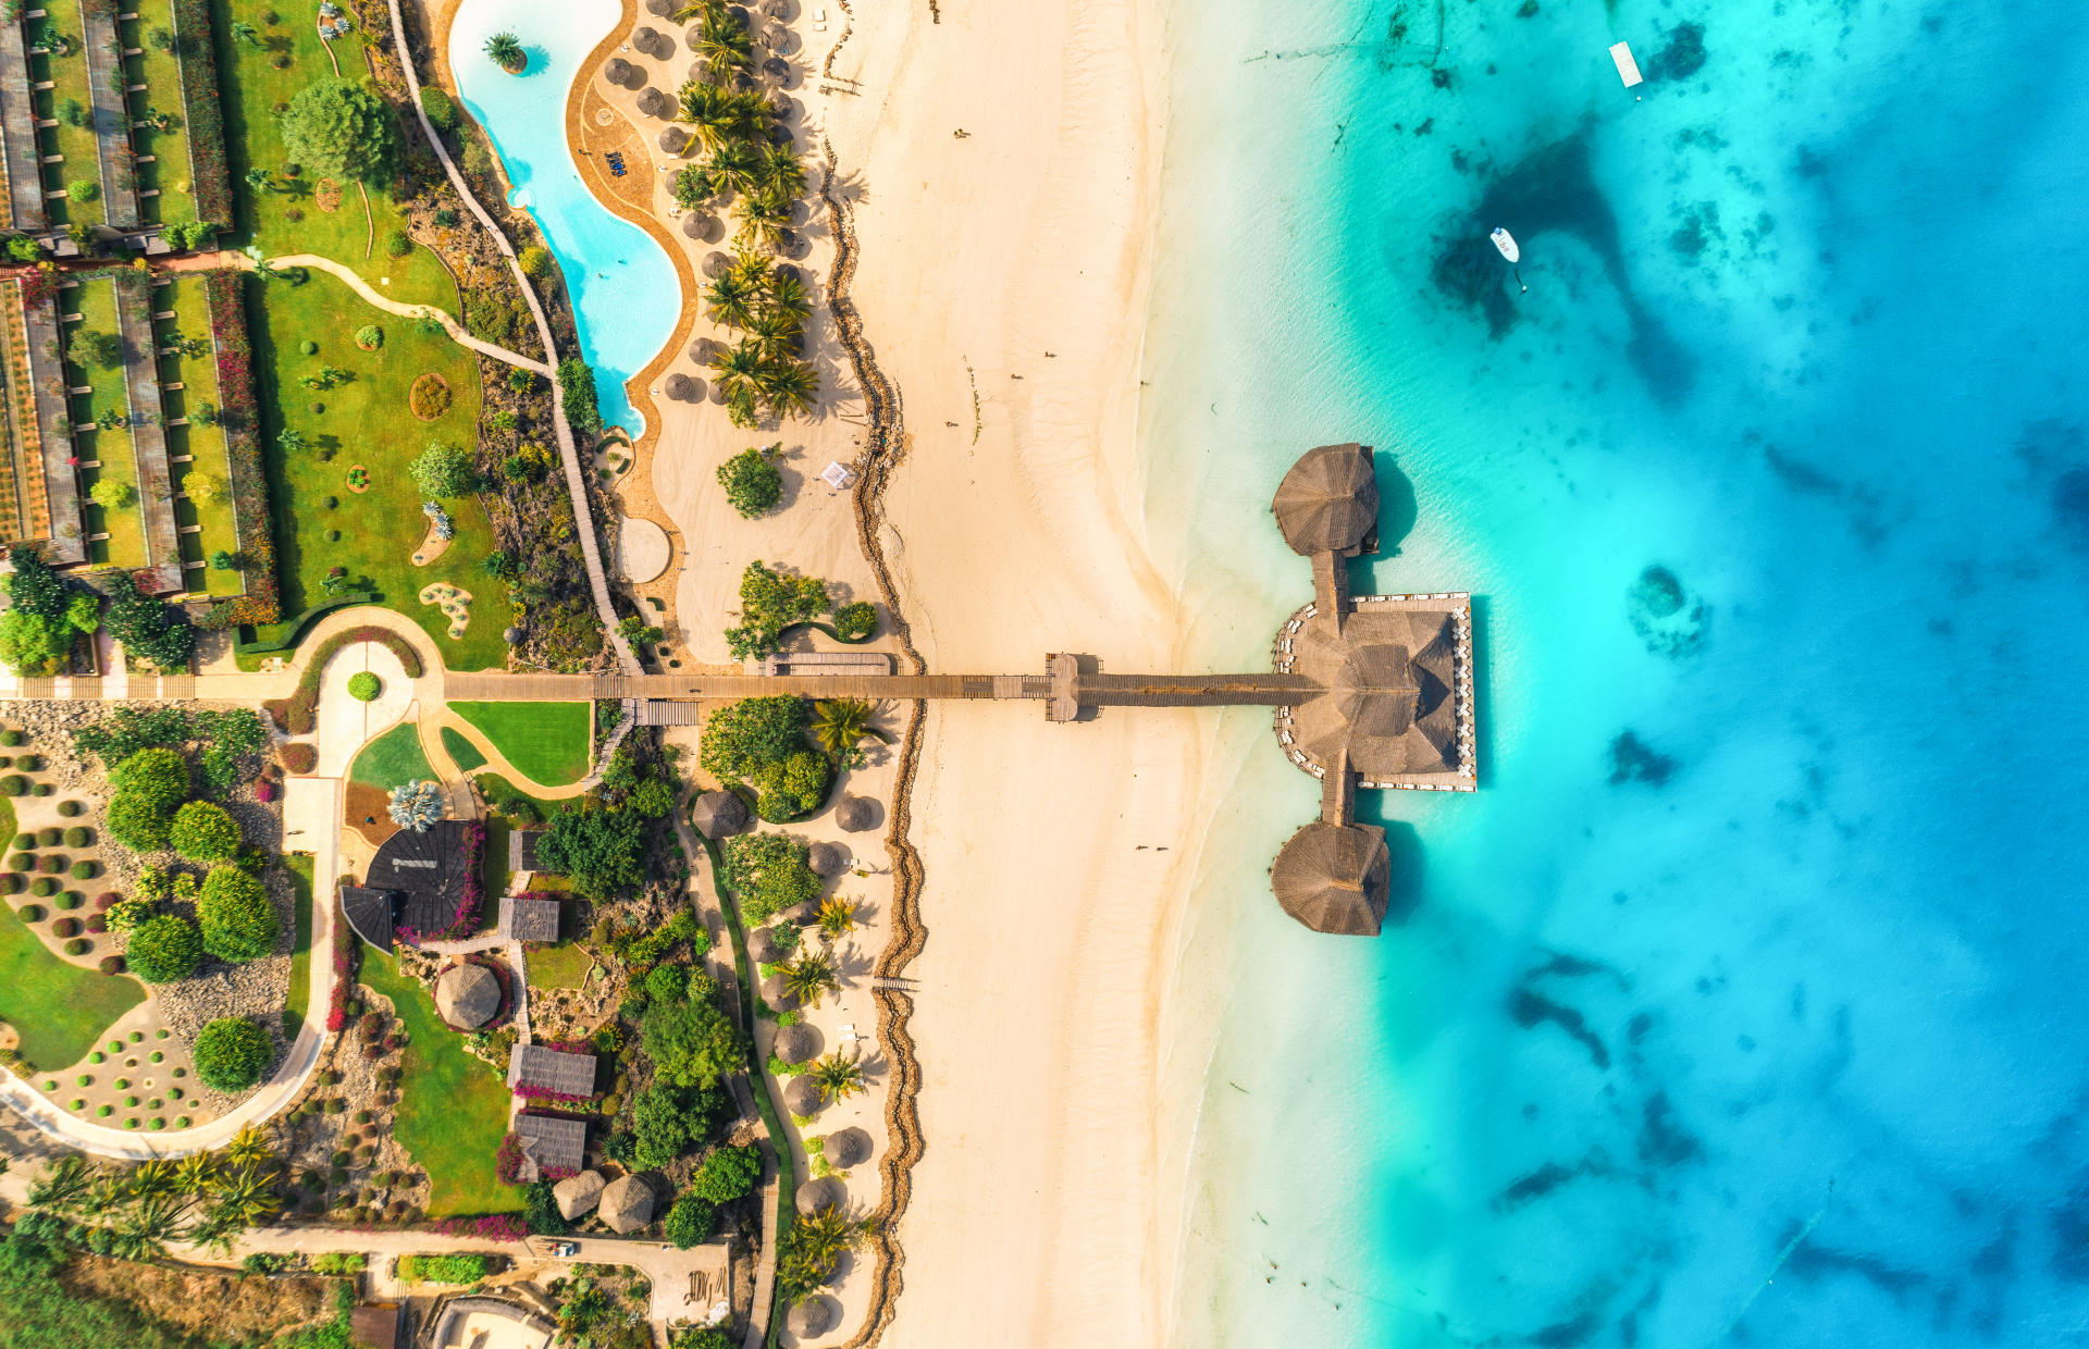
<path fill-rule="evenodd" d="M 457 313 L 457 286 L 432 253 L 414 244 L 405 257 L 386 255 L 384 240 L 405 223 L 389 184 L 370 186 L 372 215 L 366 217 L 363 198 L 355 184 L 336 184 L 341 190 L 338 209 L 324 211 L 315 173 L 282 175 L 290 161 L 276 125 L 276 104 L 290 102 L 299 90 L 334 77 L 334 65 L 326 58 L 328 44 L 320 42 L 313 25 L 313 8 L 280 0 L 211 0 L 236 228 L 269 255 L 318 253 L 332 257 L 401 303 L 441 305 L 449 313 Z M 267 23 L 269 15 L 276 15 L 274 23 Z M 234 23 L 251 23 L 259 44 L 236 40 L 232 36 Z M 330 46 L 341 61 L 343 77 L 359 81 L 368 75 L 361 31 Z M 278 71 L 274 61 L 280 54 L 290 56 L 290 61 Z M 259 192 L 251 188 L 247 184 L 249 169 L 265 169 L 272 175 L 269 186 Z M 290 221 L 290 211 L 299 211 L 303 219 Z M 236 242 L 247 242 L 247 238 Z M 386 280 L 391 284 L 384 284 Z M 472 418 L 476 420 L 476 416 L 478 401 L 472 399 Z"/>

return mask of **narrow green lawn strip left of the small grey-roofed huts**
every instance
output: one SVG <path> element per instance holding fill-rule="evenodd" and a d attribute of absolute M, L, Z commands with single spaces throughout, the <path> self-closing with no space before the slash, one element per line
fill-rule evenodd
<path fill-rule="evenodd" d="M 464 1038 L 443 1025 L 418 979 L 363 948 L 361 981 L 391 998 L 405 1023 L 405 1080 L 399 1086 L 395 1136 L 428 1172 L 428 1217 L 514 1213 L 522 1192 L 493 1174 L 508 1136 L 508 1084 L 466 1052 Z"/>

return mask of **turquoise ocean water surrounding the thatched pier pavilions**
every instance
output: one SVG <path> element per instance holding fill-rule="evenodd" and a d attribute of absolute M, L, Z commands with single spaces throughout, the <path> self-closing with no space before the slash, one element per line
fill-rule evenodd
<path fill-rule="evenodd" d="M 1385 936 L 1316 938 L 1266 890 L 1314 785 L 1228 714 L 1172 1343 L 2089 1341 L 2089 8 L 1170 42 L 1184 664 L 1266 666 L 1270 491 L 1362 439 L 1358 581 L 1479 595 L 1483 743 L 1479 796 L 1375 802 Z"/>

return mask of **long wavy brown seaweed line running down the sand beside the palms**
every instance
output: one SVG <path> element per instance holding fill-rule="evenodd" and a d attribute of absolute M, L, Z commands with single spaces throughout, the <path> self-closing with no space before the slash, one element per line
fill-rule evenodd
<path fill-rule="evenodd" d="M 848 349 L 848 363 L 856 372 L 856 382 L 863 386 L 863 399 L 871 411 L 861 478 L 852 497 L 856 539 L 871 564 L 871 574 L 877 578 L 877 593 L 886 601 L 886 612 L 892 616 L 892 633 L 900 639 L 900 649 L 907 652 L 913 670 L 921 674 L 928 670 L 928 662 L 915 649 L 913 631 L 900 614 L 898 591 L 892 585 L 892 572 L 886 566 L 886 551 L 879 543 L 882 530 L 892 528 L 884 518 L 884 491 L 892 470 L 900 462 L 900 397 L 898 388 L 877 370 L 871 345 L 863 336 L 863 317 L 848 299 L 848 284 L 856 274 L 856 230 L 848 207 L 834 190 L 834 142 L 821 140 L 821 148 L 827 171 L 821 175 L 819 194 L 827 203 L 836 240 L 827 307 L 834 311 L 836 332 L 842 338 L 842 347 Z M 907 965 L 921 954 L 921 944 L 928 940 L 928 931 L 921 927 L 921 854 L 915 852 L 915 846 L 907 837 L 913 821 L 913 779 L 921 762 L 921 720 L 925 712 L 928 704 L 921 700 L 915 700 L 907 712 L 907 733 L 900 741 L 900 777 L 892 789 L 892 823 L 886 829 L 886 852 L 892 856 L 892 940 L 886 942 L 886 950 L 877 956 L 879 984 L 898 979 L 907 971 Z M 913 1015 L 913 998 L 890 986 L 875 988 L 873 996 L 877 998 L 877 1042 L 892 1055 L 892 1090 L 886 1096 L 886 1153 L 877 1161 L 884 1197 L 873 1213 L 875 1228 L 869 1238 L 875 1253 L 871 1268 L 871 1309 L 863 1328 L 856 1330 L 856 1336 L 844 1349 L 875 1345 L 886 1326 L 892 1324 L 907 1265 L 907 1253 L 898 1242 L 898 1224 L 907 1215 L 907 1201 L 913 1197 L 913 1165 L 921 1159 L 923 1151 L 921 1115 L 915 1109 L 915 1096 L 921 1090 L 921 1063 L 915 1059 L 913 1036 L 907 1032 L 907 1021 Z"/>

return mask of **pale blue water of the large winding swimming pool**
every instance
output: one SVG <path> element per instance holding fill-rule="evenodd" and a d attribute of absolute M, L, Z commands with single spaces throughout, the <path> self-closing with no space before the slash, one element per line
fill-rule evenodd
<path fill-rule="evenodd" d="M 449 69 L 464 106 L 493 138 L 516 205 L 543 228 L 572 290 L 581 357 L 595 370 L 606 424 L 639 430 L 625 380 L 675 336 L 681 284 L 675 263 L 637 226 L 610 215 L 581 182 L 566 146 L 566 94 L 585 58 L 618 19 L 616 0 L 464 0 L 449 29 Z M 487 38 L 512 31 L 529 50 L 522 75 L 485 56 Z M 639 169 L 643 171 L 643 167 Z"/>

